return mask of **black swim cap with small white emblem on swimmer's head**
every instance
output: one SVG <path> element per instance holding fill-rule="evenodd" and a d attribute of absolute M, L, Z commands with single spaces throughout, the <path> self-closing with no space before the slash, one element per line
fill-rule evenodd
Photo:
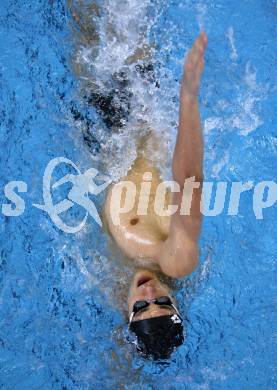
<path fill-rule="evenodd" d="M 137 336 L 137 349 L 154 360 L 168 359 L 184 341 L 182 320 L 178 314 L 134 321 L 130 330 Z"/>

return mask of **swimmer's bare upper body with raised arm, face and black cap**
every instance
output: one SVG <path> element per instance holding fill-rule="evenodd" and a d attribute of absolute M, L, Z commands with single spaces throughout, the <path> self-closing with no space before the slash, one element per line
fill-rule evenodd
<path fill-rule="evenodd" d="M 136 213 L 135 207 L 120 215 L 119 225 L 113 223 L 112 191 L 108 191 L 105 216 L 108 228 L 121 250 L 131 259 L 137 260 L 144 268 L 154 266 L 167 276 L 180 278 L 190 274 L 198 263 L 198 238 L 201 228 L 200 199 L 203 182 L 203 139 L 198 110 L 198 91 L 204 67 L 204 52 L 207 36 L 202 32 L 195 40 L 184 65 L 180 89 L 179 130 L 172 160 L 173 179 L 180 188 L 174 192 L 171 204 L 182 202 L 182 188 L 185 180 L 195 177 L 200 183 L 193 190 L 189 215 L 176 212 L 171 217 L 158 217 L 154 213 L 154 198 L 161 182 L 153 162 L 138 153 L 123 181 L 139 185 L 145 172 L 152 177 L 147 215 Z M 170 199 L 167 197 L 167 202 Z M 138 349 L 147 356 L 167 358 L 175 347 L 183 342 L 182 319 L 170 296 L 154 272 L 142 270 L 135 274 L 130 288 L 129 326 L 137 336 Z"/>

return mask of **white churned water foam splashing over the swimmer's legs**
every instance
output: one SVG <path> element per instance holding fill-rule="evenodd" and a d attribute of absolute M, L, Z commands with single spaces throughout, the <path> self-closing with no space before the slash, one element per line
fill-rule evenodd
<path fill-rule="evenodd" d="M 93 85 L 105 94 L 112 89 L 114 75 L 122 71 L 129 81 L 131 110 L 125 125 L 112 134 L 105 131 L 101 121 L 90 129 L 101 140 L 101 161 L 106 173 L 115 181 L 126 174 L 137 155 L 139 139 L 149 131 L 159 138 L 160 146 L 158 150 L 146 148 L 146 156 L 155 160 L 164 177 L 170 175 L 170 158 L 164 156 L 170 156 L 170 151 L 172 154 L 172 112 L 164 110 L 165 91 L 161 96 L 158 81 L 151 82 L 136 70 L 136 65 L 142 63 L 151 63 L 155 68 L 155 48 L 149 36 L 161 9 L 162 4 L 154 6 L 150 0 L 139 3 L 106 0 L 103 12 L 95 21 L 99 36 L 94 41 L 97 47 L 89 41 L 79 44 L 76 50 L 75 62 L 82 87 Z M 176 117 L 175 107 L 174 111 Z"/>

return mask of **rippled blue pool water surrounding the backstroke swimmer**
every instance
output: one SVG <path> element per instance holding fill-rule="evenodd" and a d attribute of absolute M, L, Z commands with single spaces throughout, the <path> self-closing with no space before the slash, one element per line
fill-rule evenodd
<path fill-rule="evenodd" d="M 91 20 L 91 1 L 69 3 Z M 100 31 L 95 62 L 93 43 L 74 27 L 69 3 L 0 5 L 1 205 L 9 181 L 27 183 L 24 213 L 0 213 L 0 388 L 275 389 L 276 206 L 257 220 L 250 190 L 237 216 L 224 209 L 205 218 L 201 265 L 176 286 L 186 342 L 169 362 L 157 364 L 138 357 L 126 341 L 130 263 L 92 218 L 79 233 L 67 234 L 32 204 L 43 203 L 42 177 L 54 157 L 112 179 L 130 166 L 136 129 L 127 125 L 111 134 L 82 90 L 90 78 L 105 83 L 120 69 L 139 34 L 152 48 L 160 88 L 134 76 L 132 116 L 147 106 L 143 118 L 168 150 L 168 161 L 158 161 L 163 175 L 169 175 L 176 134 L 183 56 L 205 29 L 200 101 L 206 180 L 274 180 L 276 0 L 103 0 L 94 21 Z M 124 44 L 109 40 L 108 17 L 121 28 Z M 57 199 L 68 188 L 63 191 Z M 95 199 L 99 210 L 103 199 Z M 69 218 L 78 224 L 84 210 L 73 209 Z"/>

